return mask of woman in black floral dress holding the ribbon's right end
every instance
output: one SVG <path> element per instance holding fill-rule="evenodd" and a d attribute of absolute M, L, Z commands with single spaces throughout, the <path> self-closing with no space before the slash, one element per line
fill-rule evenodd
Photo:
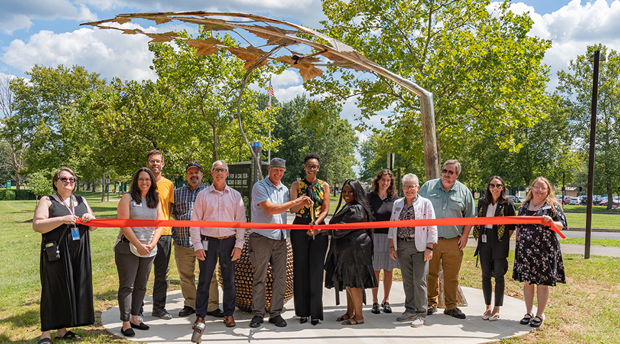
<path fill-rule="evenodd" d="M 568 228 L 566 217 L 555 198 L 551 183 L 544 177 L 536 178 L 532 183 L 526 200 L 519 208 L 519 216 L 542 216 L 549 225 L 553 223 L 560 230 Z M 545 319 L 544 310 L 549 299 L 549 286 L 566 283 L 559 240 L 550 226 L 517 225 L 513 279 L 524 282 L 523 298 L 526 303 L 526 314 L 521 319 L 521 324 L 539 327 Z M 532 311 L 535 292 L 536 315 Z"/>

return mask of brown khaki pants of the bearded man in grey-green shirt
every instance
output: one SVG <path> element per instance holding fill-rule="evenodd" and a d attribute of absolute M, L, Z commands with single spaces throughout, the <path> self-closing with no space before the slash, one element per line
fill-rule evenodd
<path fill-rule="evenodd" d="M 433 259 L 428 264 L 428 305 L 437 307 L 439 299 L 439 273 L 444 270 L 444 298 L 446 310 L 457 308 L 459 292 L 459 270 L 463 261 L 463 251 L 459 250 L 459 237 L 437 239 L 433 246 Z"/>

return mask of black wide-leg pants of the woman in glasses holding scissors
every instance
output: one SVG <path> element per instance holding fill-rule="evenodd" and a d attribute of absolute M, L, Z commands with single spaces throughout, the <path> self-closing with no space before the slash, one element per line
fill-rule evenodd
<path fill-rule="evenodd" d="M 308 224 L 296 217 L 293 224 Z M 297 316 L 323 320 L 323 267 L 329 239 L 305 230 L 291 230 L 293 246 L 293 302 Z"/>

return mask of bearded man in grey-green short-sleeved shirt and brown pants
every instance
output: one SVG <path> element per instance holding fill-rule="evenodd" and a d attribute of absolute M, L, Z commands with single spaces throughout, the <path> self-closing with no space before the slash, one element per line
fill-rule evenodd
<path fill-rule="evenodd" d="M 475 217 L 476 204 L 471 191 L 459 182 L 461 164 L 458 160 L 446 160 L 442 167 L 442 177 L 429 180 L 417 193 L 428 198 L 435 209 L 435 218 Z M 465 314 L 457 308 L 459 290 L 459 270 L 463 261 L 463 248 L 471 225 L 437 226 L 437 244 L 433 247 L 433 258 L 428 264 L 428 315 L 437 312 L 439 299 L 439 274 L 444 270 L 444 314 L 457 319 L 465 319 Z"/>

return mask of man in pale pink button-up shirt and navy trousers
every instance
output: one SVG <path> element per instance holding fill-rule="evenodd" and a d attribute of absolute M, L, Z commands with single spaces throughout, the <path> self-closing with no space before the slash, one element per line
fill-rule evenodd
<path fill-rule="evenodd" d="M 211 166 L 213 184 L 196 196 L 192 221 L 246 222 L 241 194 L 226 185 L 228 165 L 218 160 Z M 241 255 L 245 241 L 245 228 L 190 227 L 200 275 L 196 291 L 196 322 L 205 321 L 209 299 L 209 283 L 218 259 L 222 269 L 224 322 L 227 327 L 236 325 L 235 312 L 235 263 Z"/>

